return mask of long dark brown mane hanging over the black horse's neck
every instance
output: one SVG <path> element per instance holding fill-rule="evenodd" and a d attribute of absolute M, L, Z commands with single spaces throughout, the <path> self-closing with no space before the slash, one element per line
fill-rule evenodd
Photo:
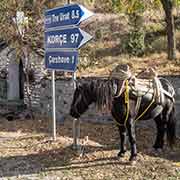
<path fill-rule="evenodd" d="M 113 88 L 112 82 L 107 79 L 92 79 L 82 83 L 84 91 L 89 91 L 93 96 L 95 105 L 99 111 L 109 111 L 112 107 Z"/>

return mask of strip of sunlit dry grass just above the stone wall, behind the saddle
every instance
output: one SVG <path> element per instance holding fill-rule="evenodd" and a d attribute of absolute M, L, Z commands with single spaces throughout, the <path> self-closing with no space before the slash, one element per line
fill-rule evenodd
<path fill-rule="evenodd" d="M 159 75 L 179 75 L 180 74 L 180 53 L 177 53 L 177 60 L 168 60 L 166 53 L 152 54 L 145 57 L 116 56 L 104 57 L 100 59 L 94 67 L 86 68 L 85 71 L 78 72 L 79 76 L 108 76 L 109 72 L 118 64 L 127 63 L 136 74 L 147 68 L 156 68 Z"/>

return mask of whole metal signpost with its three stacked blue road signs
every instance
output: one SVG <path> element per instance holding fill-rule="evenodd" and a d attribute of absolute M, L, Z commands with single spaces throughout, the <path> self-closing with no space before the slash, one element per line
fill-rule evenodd
<path fill-rule="evenodd" d="M 82 5 L 70 4 L 70 0 L 67 2 L 66 6 L 47 10 L 44 22 L 45 66 L 52 70 L 54 140 L 56 140 L 55 70 L 73 72 L 75 80 L 78 49 L 92 39 L 92 36 L 81 30 L 78 25 L 93 13 Z M 76 139 L 74 144 L 77 144 Z"/>

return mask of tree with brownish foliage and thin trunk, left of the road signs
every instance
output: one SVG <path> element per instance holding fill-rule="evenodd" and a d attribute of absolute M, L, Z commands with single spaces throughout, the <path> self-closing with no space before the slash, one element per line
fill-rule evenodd
<path fill-rule="evenodd" d="M 26 91 L 30 110 L 31 98 L 28 81 L 30 67 L 29 55 L 38 47 L 43 47 L 43 9 L 46 8 L 49 2 L 50 1 L 46 0 L 0 1 L 0 36 L 6 41 L 10 49 L 14 49 L 16 54 L 13 58 L 19 62 L 20 59 L 25 61 Z M 15 71 L 14 67 L 15 66 L 12 65 L 11 68 L 9 68 L 11 71 L 10 74 L 13 74 Z M 20 74 L 22 74 L 22 72 Z M 13 87 L 18 87 L 16 81 L 11 83 Z M 10 93 L 13 95 L 13 92 Z M 23 93 L 20 93 L 22 98 Z"/>

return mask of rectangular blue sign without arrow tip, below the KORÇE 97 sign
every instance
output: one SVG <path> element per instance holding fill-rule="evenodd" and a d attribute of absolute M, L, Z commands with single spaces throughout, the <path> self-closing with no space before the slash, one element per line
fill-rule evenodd
<path fill-rule="evenodd" d="M 77 68 L 77 51 L 46 51 L 45 66 L 48 69 L 75 72 Z"/>

